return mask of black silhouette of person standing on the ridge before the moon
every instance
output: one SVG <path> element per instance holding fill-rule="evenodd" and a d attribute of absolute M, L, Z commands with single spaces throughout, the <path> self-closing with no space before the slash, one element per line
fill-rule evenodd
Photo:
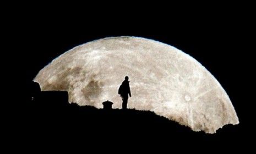
<path fill-rule="evenodd" d="M 127 109 L 128 94 L 130 97 L 132 97 L 132 95 L 130 94 L 130 85 L 129 85 L 130 81 L 128 81 L 128 80 L 129 80 L 129 77 L 126 76 L 124 78 L 122 85 L 118 89 L 118 94 L 120 94 L 120 96 L 122 97 L 122 100 L 123 100 L 123 104 L 122 104 L 123 109 Z"/>

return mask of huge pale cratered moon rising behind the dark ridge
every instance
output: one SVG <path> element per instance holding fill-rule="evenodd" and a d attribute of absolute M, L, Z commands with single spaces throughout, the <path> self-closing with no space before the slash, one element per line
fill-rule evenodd
<path fill-rule="evenodd" d="M 218 81 L 199 62 L 175 47 L 139 37 L 109 37 L 77 46 L 62 54 L 34 79 L 42 90 L 68 91 L 69 102 L 102 107 L 114 102 L 124 76 L 130 79 L 128 107 L 150 110 L 215 133 L 238 124 L 235 109 Z"/>

